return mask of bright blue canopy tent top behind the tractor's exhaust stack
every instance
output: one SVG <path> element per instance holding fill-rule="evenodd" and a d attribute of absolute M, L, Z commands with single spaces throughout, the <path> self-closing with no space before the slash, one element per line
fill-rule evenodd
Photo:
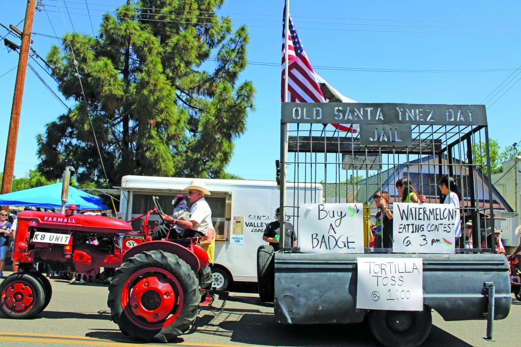
<path fill-rule="evenodd" d="M 106 210 L 101 198 L 69 186 L 66 207 L 75 204 L 78 210 Z M 0 195 L 0 205 L 31 206 L 44 209 L 61 208 L 61 183 L 15 191 Z"/>

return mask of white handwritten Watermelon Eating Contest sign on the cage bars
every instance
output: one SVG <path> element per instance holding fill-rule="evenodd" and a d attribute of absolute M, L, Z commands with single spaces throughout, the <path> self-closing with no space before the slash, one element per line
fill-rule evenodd
<path fill-rule="evenodd" d="M 450 204 L 394 203 L 393 252 L 454 253 L 457 217 Z"/>

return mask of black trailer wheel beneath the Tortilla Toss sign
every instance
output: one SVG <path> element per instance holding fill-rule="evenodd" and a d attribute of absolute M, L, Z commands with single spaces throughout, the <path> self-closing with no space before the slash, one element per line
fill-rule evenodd
<path fill-rule="evenodd" d="M 429 336 L 432 315 L 429 307 L 423 311 L 372 311 L 369 327 L 384 346 L 418 346 Z"/>

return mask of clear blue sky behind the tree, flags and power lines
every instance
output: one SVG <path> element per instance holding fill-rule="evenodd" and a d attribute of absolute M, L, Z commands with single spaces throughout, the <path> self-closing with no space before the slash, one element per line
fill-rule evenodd
<path fill-rule="evenodd" d="M 92 35 L 85 0 L 65 1 L 75 30 Z M 49 19 L 58 36 L 72 31 L 67 12 L 64 22 L 60 11 L 60 3 L 65 11 L 64 0 L 42 2 L 45 6 L 42 11 L 36 11 L 34 33 L 54 35 Z M 123 2 L 86 0 L 96 33 L 101 15 L 113 12 Z M 257 89 L 256 111 L 249 114 L 247 130 L 237 139 L 233 159 L 226 169 L 246 179 L 275 177 L 274 162 L 280 148 L 283 3 L 283 0 L 228 0 L 218 11 L 231 17 L 234 24 L 249 27 L 251 43 L 247 49 L 251 63 L 240 79 L 253 81 Z M 18 24 L 24 17 L 25 6 L 26 1 L 3 1 L 0 22 Z M 521 70 L 515 70 L 521 67 L 521 3 L 518 1 L 293 0 L 290 12 L 316 72 L 342 94 L 360 102 L 484 103 L 490 137 L 497 139 L 502 149 L 521 140 L 521 134 L 515 130 L 519 119 L 516 105 L 521 91 L 521 83 L 516 83 L 521 79 Z M 23 29 L 23 22 L 18 28 Z M 7 31 L 0 28 L 0 36 L 6 34 Z M 11 35 L 7 38 L 19 43 Z M 56 39 L 36 34 L 33 40 L 32 47 L 44 58 L 51 45 L 58 44 Z M 16 69 L 4 73 L 17 65 L 18 54 L 8 53 L 6 47 L 1 47 L 0 119 L 5 126 L 0 141 L 0 165 L 3 169 Z M 29 61 L 57 92 L 50 76 L 34 61 Z M 505 80 L 505 84 L 501 84 Z M 72 106 L 70 100 L 66 103 Z M 63 112 L 63 105 L 28 69 L 16 176 L 35 168 L 38 163 L 35 136 L 43 133 L 45 124 Z"/>

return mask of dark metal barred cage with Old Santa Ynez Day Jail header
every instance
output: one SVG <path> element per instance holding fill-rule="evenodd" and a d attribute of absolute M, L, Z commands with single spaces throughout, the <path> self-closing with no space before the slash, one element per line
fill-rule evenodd
<path fill-rule="evenodd" d="M 427 202 L 440 203 L 438 183 L 448 175 L 462 193 L 462 237 L 455 240 L 456 253 L 495 251 L 494 233 L 487 236 L 487 228 L 494 230 L 494 212 L 502 205 L 494 196 L 487 144 L 482 105 L 284 102 L 281 213 L 294 222 L 298 234 L 298 202 L 302 198 L 296 196 L 299 190 L 287 196 L 290 182 L 310 190 L 322 186 L 322 201 L 315 201 L 315 195 L 309 194 L 309 201 L 305 201 L 307 195 L 304 197 L 305 203 L 362 203 L 367 214 L 374 216 L 376 192 L 389 192 L 391 209 L 394 202 L 401 201 L 395 186 L 399 178 L 410 178 Z M 367 238 L 370 232 L 366 228 Z M 297 251 L 288 245 L 283 248 Z M 374 245 L 374 249 L 365 251 L 391 249 Z"/>

